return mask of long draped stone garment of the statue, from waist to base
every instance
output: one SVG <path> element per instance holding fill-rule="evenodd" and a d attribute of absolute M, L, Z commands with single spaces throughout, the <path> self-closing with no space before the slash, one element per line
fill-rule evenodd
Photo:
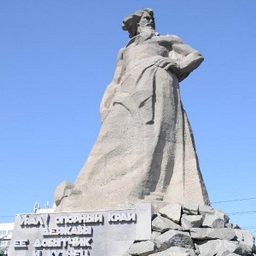
<path fill-rule="evenodd" d="M 175 75 L 140 62 L 123 79 L 110 110 L 74 185 L 81 195 L 64 204 L 209 203 Z"/>

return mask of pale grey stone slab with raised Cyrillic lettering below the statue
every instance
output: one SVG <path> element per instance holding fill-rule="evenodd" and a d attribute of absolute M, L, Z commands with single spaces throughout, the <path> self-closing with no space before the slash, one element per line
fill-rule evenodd
<path fill-rule="evenodd" d="M 9 256 L 121 256 L 151 236 L 151 205 L 95 212 L 20 214 Z"/>

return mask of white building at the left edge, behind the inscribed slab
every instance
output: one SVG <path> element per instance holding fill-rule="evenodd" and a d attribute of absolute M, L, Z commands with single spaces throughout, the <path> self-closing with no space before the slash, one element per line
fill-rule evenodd
<path fill-rule="evenodd" d="M 15 224 L 0 223 L 0 255 L 7 255 Z"/>

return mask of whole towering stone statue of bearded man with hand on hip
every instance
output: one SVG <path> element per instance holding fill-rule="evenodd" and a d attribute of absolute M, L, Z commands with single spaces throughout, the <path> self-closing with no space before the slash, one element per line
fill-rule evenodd
<path fill-rule="evenodd" d="M 56 189 L 57 211 L 209 204 L 178 84 L 203 56 L 155 32 L 152 9 L 128 15 L 122 28 L 131 39 L 102 98 L 101 131 L 76 182 Z"/>

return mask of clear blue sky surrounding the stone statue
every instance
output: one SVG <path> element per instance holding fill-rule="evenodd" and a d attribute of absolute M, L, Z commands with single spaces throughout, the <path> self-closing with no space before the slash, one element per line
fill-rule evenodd
<path fill-rule="evenodd" d="M 146 7 L 160 34 L 205 56 L 181 90 L 211 201 L 256 198 L 255 0 L 1 0 L 0 222 L 52 205 L 55 187 L 75 180 L 128 40 L 121 21 Z M 247 212 L 231 221 L 256 231 L 256 199 L 212 207 Z"/>

